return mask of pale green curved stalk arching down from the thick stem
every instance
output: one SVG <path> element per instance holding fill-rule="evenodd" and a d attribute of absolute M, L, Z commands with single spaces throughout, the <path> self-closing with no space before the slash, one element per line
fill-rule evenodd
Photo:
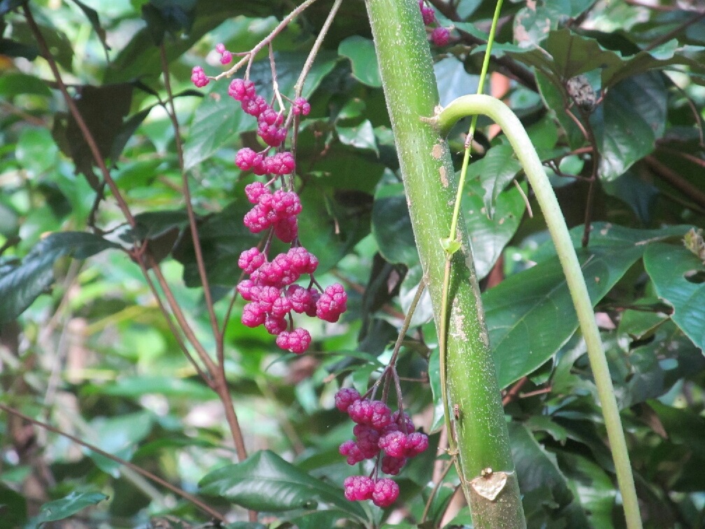
<path fill-rule="evenodd" d="M 568 282 L 570 296 L 575 305 L 580 329 L 587 344 L 587 354 L 590 361 L 597 394 L 602 406 L 602 413 L 607 429 L 617 481 L 622 494 L 627 527 L 636 529 L 642 527 L 639 516 L 639 504 L 632 476 L 627 443 L 624 437 L 622 422 L 620 421 L 619 408 L 615 399 L 612 379 L 603 351 L 600 333 L 595 322 L 592 304 L 587 292 L 585 279 L 580 269 L 580 263 L 575 254 L 568 227 L 565 225 L 563 213 L 560 212 L 558 200 L 553 193 L 553 188 L 548 182 L 544 166 L 532 145 L 522 123 L 517 116 L 503 102 L 486 95 L 467 95 L 455 99 L 448 104 L 434 119 L 441 134 L 446 135 L 453 123 L 458 119 L 473 114 L 484 114 L 501 126 L 510 141 L 525 174 L 531 183 L 541 211 L 546 218 L 548 231 L 551 233 L 553 244 L 560 265 L 563 267 L 565 279 Z"/>

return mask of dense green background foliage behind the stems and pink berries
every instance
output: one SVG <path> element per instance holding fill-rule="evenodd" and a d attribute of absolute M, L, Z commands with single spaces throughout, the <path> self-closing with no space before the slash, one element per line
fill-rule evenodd
<path fill-rule="evenodd" d="M 411 1 L 411 0 L 410 0 Z M 136 215 L 130 228 L 104 189 L 78 125 L 20 6 L 27 4 L 63 80 Z M 274 40 L 277 81 L 291 94 L 330 2 L 319 0 Z M 477 87 L 494 2 L 432 2 L 450 45 L 434 49 L 441 104 Z M 649 527 L 705 521 L 705 16 L 697 2 L 539 1 L 505 5 L 493 68 L 504 97 L 550 170 L 581 250 L 608 348 Z M 231 446 L 221 403 L 180 352 L 125 248 L 149 247 L 207 351 L 207 317 L 177 142 L 166 113 L 164 44 L 200 241 L 223 321 L 252 176 L 238 148 L 256 122 L 227 83 L 194 90 L 192 66 L 215 75 L 218 42 L 247 51 L 295 7 L 290 1 L 0 1 L 0 403 L 49 422 L 202 495 L 232 527 L 238 506 L 260 522 L 429 527 L 470 523 L 445 477 L 438 358 L 422 302 L 400 356 L 405 408 L 432 446 L 399 476 L 381 511 L 343 498 L 353 473 L 338 454 L 350 423 L 333 408 L 342 384 L 367 387 L 389 359 L 420 279 L 398 162 L 362 1 L 345 1 L 304 87 L 312 113 L 298 138 L 302 243 L 343 281 L 349 310 L 309 327 L 312 351 L 278 351 L 262 329 L 226 327 L 226 373 L 247 450 Z M 266 52 L 250 78 L 271 94 Z M 472 233 L 491 343 L 507 389 L 513 454 L 531 527 L 619 527 L 601 414 L 577 318 L 520 167 L 480 121 L 463 210 Z M 449 138 L 462 149 L 462 130 Z M 518 186 L 512 184 L 517 181 Z M 97 200 L 106 193 L 105 200 Z M 535 206 L 535 205 L 534 205 Z M 491 288 L 490 288 L 491 287 Z M 333 411 L 331 411 L 333 408 Z M 440 414 L 439 414 L 440 413 Z M 4 413 L 0 526 L 73 517 L 78 526 L 186 527 L 209 517 L 130 468 Z M 437 459 L 434 463 L 434 458 Z M 442 482 L 441 482 L 442 481 Z M 450 504 L 450 507 L 449 507 Z M 271 513 L 271 516 L 269 516 Z M 448 513 L 447 516 L 444 514 Z M 150 522 L 152 520 L 152 522 Z M 4 524 L 4 525 L 3 525 Z M 171 524 L 171 525 L 170 525 Z M 182 525 L 179 525 L 182 524 Z"/>

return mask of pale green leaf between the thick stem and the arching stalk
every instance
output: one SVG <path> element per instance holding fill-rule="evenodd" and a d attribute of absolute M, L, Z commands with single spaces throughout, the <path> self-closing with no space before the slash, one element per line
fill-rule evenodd
<path fill-rule="evenodd" d="M 484 205 L 486 188 L 473 181 L 465 185 L 462 211 L 465 226 L 470 234 L 470 245 L 475 262 L 477 279 L 484 278 L 497 262 L 504 247 L 519 227 L 526 209 L 526 202 L 516 187 L 502 191 L 492 200 L 494 215 L 489 217 Z"/>

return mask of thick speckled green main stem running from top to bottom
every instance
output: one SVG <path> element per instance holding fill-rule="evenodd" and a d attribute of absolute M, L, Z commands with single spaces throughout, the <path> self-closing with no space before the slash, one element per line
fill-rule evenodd
<path fill-rule="evenodd" d="M 367 0 L 424 278 L 441 329 L 443 274 L 456 181 L 448 145 L 427 121 L 439 104 L 416 0 Z M 451 257 L 446 368 L 451 446 L 475 527 L 524 527 L 519 485 L 464 222 Z"/>

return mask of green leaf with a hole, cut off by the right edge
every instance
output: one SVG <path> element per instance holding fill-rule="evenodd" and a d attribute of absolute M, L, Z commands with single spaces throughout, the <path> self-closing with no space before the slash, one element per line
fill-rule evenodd
<path fill-rule="evenodd" d="M 705 352 L 703 263 L 681 245 L 655 243 L 646 249 L 644 267 L 656 295 L 673 307 L 671 320 Z"/>

